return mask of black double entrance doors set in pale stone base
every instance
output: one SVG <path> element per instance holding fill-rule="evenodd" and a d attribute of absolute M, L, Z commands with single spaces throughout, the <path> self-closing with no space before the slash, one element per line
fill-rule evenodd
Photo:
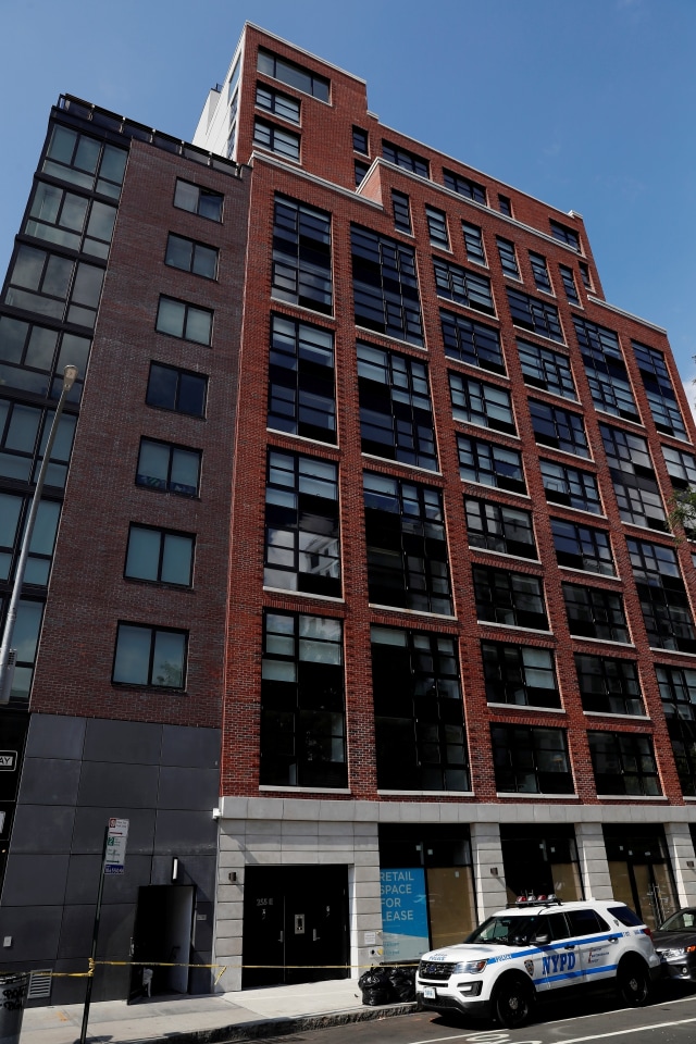
<path fill-rule="evenodd" d="M 349 975 L 346 867 L 247 867 L 241 985 Z"/>

